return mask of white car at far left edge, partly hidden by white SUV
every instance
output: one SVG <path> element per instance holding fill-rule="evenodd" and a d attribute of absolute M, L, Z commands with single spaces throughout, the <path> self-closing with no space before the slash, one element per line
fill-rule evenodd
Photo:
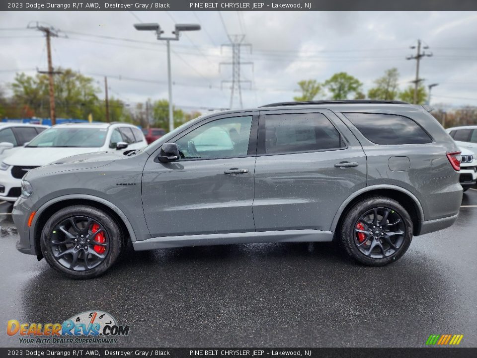
<path fill-rule="evenodd" d="M 49 128 L 44 125 L 0 122 L 0 161 Z"/>

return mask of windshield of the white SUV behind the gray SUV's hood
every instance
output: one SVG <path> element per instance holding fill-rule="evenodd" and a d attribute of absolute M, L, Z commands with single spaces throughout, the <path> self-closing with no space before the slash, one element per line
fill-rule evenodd
<path fill-rule="evenodd" d="M 99 148 L 106 140 L 106 128 L 52 127 L 36 136 L 27 147 Z"/>

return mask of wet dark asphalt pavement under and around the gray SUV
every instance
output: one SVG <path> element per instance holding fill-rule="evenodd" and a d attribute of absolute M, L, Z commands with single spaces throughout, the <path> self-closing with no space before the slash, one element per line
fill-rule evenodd
<path fill-rule="evenodd" d="M 477 346 L 477 190 L 451 228 L 413 239 L 387 267 L 328 243 L 130 252 L 109 273 L 71 280 L 15 250 L 0 205 L 0 346 L 6 321 L 63 322 L 102 310 L 130 335 L 117 346 L 423 347 L 430 334 Z M 5 214 L 6 213 L 6 214 Z"/>

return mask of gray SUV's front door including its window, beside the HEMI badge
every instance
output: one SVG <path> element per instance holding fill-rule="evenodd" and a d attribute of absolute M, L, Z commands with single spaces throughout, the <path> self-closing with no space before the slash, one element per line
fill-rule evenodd
<path fill-rule="evenodd" d="M 142 196 L 152 237 L 255 231 L 256 121 L 251 112 L 209 118 L 171 140 L 181 159 L 160 163 L 159 149 L 149 158 Z"/>

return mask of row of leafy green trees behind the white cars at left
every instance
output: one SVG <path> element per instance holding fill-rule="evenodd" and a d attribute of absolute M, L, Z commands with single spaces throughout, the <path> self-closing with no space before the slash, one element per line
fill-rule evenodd
<path fill-rule="evenodd" d="M 8 87 L 12 91 L 9 97 L 0 88 L 0 118 L 50 117 L 47 75 L 28 76 L 25 73 L 17 73 Z M 98 97 L 101 88 L 93 78 L 64 69 L 55 76 L 54 89 L 57 118 L 92 117 L 93 121 L 106 121 L 105 100 Z M 168 113 L 166 99 L 152 101 L 149 110 L 146 110 L 143 103 L 131 107 L 119 98 L 109 98 L 109 118 L 112 122 L 129 122 L 146 127 L 149 114 L 151 127 L 167 130 Z M 198 112 L 186 113 L 174 108 L 174 125 L 179 126 L 198 115 Z"/>

